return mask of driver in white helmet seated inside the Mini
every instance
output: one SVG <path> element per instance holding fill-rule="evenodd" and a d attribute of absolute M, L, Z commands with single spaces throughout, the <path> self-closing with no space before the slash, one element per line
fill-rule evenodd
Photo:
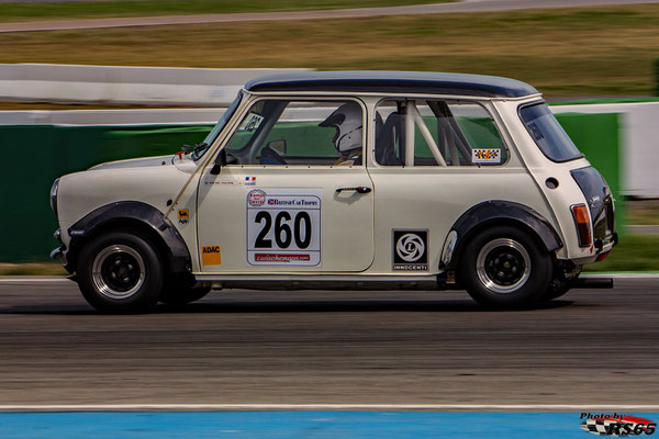
<path fill-rule="evenodd" d="M 356 102 L 340 105 L 319 126 L 334 126 L 336 134 L 332 142 L 340 155 L 336 165 L 361 165 L 362 137 L 361 108 Z"/>

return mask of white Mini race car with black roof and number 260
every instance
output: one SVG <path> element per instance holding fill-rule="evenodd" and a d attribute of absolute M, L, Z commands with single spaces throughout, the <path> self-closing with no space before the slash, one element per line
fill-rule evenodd
<path fill-rule="evenodd" d="M 570 289 L 617 243 L 613 198 L 541 95 L 505 78 L 248 82 L 203 143 L 55 181 L 53 251 L 103 312 L 211 289 Z"/>

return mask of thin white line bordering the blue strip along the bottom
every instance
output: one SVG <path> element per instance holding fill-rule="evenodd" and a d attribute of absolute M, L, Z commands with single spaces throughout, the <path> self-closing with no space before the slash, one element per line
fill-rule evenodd
<path fill-rule="evenodd" d="M 0 412 L 122 412 L 122 410 L 638 410 L 659 405 L 623 404 L 59 404 L 0 405 Z"/>

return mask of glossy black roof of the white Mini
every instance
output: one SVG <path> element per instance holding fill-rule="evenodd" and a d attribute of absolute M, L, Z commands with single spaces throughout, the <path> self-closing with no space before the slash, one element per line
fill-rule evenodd
<path fill-rule="evenodd" d="M 349 91 L 522 98 L 538 91 L 526 82 L 494 76 L 423 71 L 304 71 L 263 76 L 245 85 L 253 92 Z"/>

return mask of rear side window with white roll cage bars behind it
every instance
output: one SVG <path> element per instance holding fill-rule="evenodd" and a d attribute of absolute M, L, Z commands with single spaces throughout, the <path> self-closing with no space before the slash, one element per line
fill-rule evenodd
<path fill-rule="evenodd" d="M 507 149 L 484 108 L 465 101 L 391 100 L 376 111 L 383 166 L 498 166 Z"/>

